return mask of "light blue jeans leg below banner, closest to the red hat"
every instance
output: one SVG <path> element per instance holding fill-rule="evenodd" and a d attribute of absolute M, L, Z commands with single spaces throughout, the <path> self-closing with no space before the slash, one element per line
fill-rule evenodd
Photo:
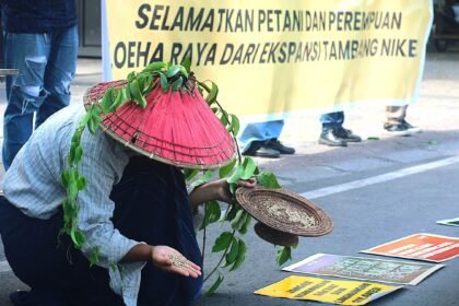
<path fill-rule="evenodd" d="M 281 136 L 284 120 L 249 123 L 239 137 L 240 151 L 244 153 L 254 141 L 267 141 Z"/>

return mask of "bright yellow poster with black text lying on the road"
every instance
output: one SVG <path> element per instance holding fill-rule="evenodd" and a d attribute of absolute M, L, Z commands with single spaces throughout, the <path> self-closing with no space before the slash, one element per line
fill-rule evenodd
<path fill-rule="evenodd" d="M 399 289 L 401 286 L 370 282 L 289 276 L 255 294 L 338 305 L 365 305 Z"/>

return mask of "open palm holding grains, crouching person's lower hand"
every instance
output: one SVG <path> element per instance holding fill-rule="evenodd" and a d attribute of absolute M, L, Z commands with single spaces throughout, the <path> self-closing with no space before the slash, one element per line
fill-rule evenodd
<path fill-rule="evenodd" d="M 189 261 L 176 249 L 168 246 L 153 246 L 152 261 L 154 266 L 166 272 L 193 279 L 201 275 L 201 267 Z"/>

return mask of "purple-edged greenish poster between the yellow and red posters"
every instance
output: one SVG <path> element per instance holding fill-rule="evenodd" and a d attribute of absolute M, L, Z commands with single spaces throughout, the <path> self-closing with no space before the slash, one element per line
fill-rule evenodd
<path fill-rule="evenodd" d="M 443 264 L 316 254 L 284 271 L 354 280 L 416 285 Z"/>

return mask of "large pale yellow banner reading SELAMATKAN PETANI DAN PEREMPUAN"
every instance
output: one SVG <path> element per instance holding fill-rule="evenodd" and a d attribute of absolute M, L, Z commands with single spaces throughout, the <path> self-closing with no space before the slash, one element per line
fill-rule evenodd
<path fill-rule="evenodd" d="M 191 58 L 229 113 L 281 119 L 419 95 L 432 0 L 104 0 L 104 79 Z"/>

